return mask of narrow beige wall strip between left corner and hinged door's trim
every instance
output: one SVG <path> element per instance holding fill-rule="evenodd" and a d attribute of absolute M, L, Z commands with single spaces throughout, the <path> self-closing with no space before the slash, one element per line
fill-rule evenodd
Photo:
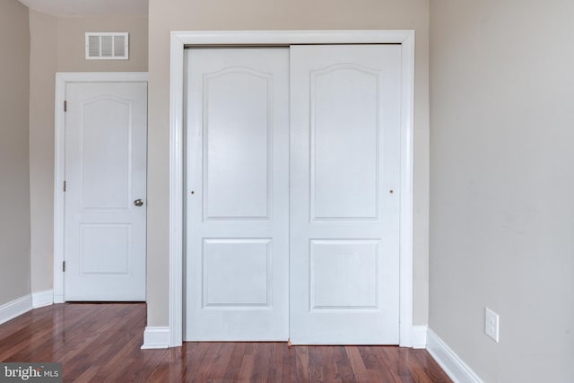
<path fill-rule="evenodd" d="M 30 253 L 32 292 L 52 289 L 54 266 L 55 18 L 30 11 Z"/>

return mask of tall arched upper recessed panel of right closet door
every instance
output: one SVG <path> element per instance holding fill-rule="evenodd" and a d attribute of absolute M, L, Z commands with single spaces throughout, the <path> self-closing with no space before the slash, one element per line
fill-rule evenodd
<path fill-rule="evenodd" d="M 380 73 L 340 64 L 309 75 L 311 219 L 377 220 Z"/>

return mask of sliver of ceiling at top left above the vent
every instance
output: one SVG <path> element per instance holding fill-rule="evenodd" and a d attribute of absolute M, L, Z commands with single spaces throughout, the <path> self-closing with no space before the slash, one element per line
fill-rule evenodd
<path fill-rule="evenodd" d="M 27 7 L 57 16 L 147 14 L 148 0 L 20 0 Z"/>

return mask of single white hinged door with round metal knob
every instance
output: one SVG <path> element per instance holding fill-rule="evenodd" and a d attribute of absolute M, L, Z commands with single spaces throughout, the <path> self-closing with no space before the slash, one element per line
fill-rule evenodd
<path fill-rule="evenodd" d="M 146 83 L 69 83 L 65 300 L 145 300 Z"/>

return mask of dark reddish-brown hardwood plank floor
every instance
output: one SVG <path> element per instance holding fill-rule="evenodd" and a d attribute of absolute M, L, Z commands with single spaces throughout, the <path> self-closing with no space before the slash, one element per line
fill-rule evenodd
<path fill-rule="evenodd" d="M 186 343 L 140 350 L 143 303 L 65 303 L 0 326 L 0 361 L 58 361 L 77 382 L 449 382 L 425 350 Z"/>

